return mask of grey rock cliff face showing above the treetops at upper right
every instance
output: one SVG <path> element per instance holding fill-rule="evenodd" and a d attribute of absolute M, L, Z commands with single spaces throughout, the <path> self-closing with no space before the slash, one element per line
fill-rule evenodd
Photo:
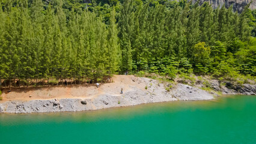
<path fill-rule="evenodd" d="M 193 3 L 197 2 L 198 0 L 192 0 Z M 243 7 L 245 7 L 249 2 L 252 1 L 252 4 L 250 5 L 251 10 L 254 10 L 256 8 L 256 0 L 199 0 L 199 4 L 203 4 L 204 2 L 209 2 L 212 4 L 213 8 L 217 8 L 218 5 L 222 7 L 225 5 L 225 7 L 230 7 L 233 4 L 234 11 L 238 11 L 238 13 L 241 13 L 243 10 Z"/>

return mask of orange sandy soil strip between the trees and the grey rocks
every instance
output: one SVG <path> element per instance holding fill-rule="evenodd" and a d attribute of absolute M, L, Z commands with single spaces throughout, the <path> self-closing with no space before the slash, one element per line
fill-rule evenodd
<path fill-rule="evenodd" d="M 49 100 L 61 98 L 95 98 L 102 94 L 120 95 L 121 88 L 123 91 L 129 91 L 131 86 L 136 88 L 145 88 L 145 83 L 135 76 L 116 75 L 112 77 L 113 83 L 103 83 L 97 88 L 96 84 L 91 85 L 72 85 L 72 86 L 54 86 L 44 88 L 15 88 L 11 92 L 4 89 L 2 92 L 2 101 L 11 100 Z M 30 97 L 29 97 L 30 96 Z"/>

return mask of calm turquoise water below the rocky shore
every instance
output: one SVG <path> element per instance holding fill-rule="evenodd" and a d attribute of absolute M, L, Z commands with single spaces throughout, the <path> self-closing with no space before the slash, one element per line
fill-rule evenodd
<path fill-rule="evenodd" d="M 0 143 L 256 143 L 256 96 L 0 114 Z"/>

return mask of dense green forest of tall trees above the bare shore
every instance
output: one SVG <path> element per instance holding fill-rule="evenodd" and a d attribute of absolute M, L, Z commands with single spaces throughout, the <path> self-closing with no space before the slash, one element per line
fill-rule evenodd
<path fill-rule="evenodd" d="M 256 11 L 249 5 L 241 14 L 164 0 L 1 0 L 0 6 L 0 86 L 78 84 L 142 71 L 170 79 L 256 74 Z"/>

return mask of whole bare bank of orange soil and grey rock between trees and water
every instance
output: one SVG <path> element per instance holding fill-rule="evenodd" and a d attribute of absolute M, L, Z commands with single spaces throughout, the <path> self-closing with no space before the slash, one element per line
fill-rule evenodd
<path fill-rule="evenodd" d="M 115 76 L 113 80 L 114 83 L 100 85 L 100 88 L 90 85 L 4 91 L 0 112 L 81 111 L 162 101 L 213 99 L 213 95 L 206 91 L 180 83 L 166 91 L 168 83 L 158 80 L 135 76 Z M 123 94 L 120 94 L 121 88 Z"/>

